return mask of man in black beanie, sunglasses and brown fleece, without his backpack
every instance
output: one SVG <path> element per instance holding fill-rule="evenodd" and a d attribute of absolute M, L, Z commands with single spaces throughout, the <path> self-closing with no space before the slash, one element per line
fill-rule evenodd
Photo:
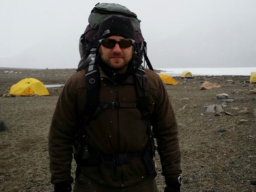
<path fill-rule="evenodd" d="M 176 118 L 158 74 L 146 69 L 146 75 L 138 77 L 142 60 L 134 54 L 135 30 L 131 20 L 115 15 L 103 20 L 98 39 L 95 64 L 100 91 L 99 98 L 95 97 L 100 103 L 96 112 L 100 113 L 86 123 L 81 121 L 91 105 L 86 106 L 87 74 L 82 70 L 72 75 L 60 94 L 49 132 L 54 191 L 71 191 L 74 145 L 78 164 L 74 192 L 156 192 L 154 147 L 147 121 L 150 120 L 167 185 L 164 191 L 179 192 L 182 171 Z M 149 115 L 142 112 L 136 93 L 138 84 L 146 82 L 145 114 L 148 111 Z M 103 108 L 106 104 L 113 105 Z"/>

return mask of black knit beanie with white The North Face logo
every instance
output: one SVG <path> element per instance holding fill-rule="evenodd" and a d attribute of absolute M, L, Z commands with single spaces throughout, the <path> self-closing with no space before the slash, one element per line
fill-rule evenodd
<path fill-rule="evenodd" d="M 112 35 L 123 36 L 135 40 L 135 29 L 128 17 L 112 15 L 100 23 L 98 39 L 104 39 Z"/>

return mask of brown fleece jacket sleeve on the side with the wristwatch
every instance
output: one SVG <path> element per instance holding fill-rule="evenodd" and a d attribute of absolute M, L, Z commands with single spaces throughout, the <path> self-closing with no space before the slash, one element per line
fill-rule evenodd
<path fill-rule="evenodd" d="M 157 140 L 162 175 L 166 178 L 176 178 L 182 173 L 178 124 L 164 83 L 160 78 L 158 82 L 158 94 L 152 114 L 152 131 Z"/>

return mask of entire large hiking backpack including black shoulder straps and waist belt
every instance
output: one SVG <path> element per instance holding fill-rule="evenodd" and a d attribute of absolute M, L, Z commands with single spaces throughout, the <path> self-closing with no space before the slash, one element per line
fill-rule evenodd
<path fill-rule="evenodd" d="M 156 177 L 156 170 L 152 164 L 152 158 L 155 156 L 156 146 L 154 144 L 154 136 L 151 130 L 148 112 L 148 79 L 141 65 L 134 74 L 134 84 L 136 88 L 137 103 L 118 103 L 99 102 L 100 95 L 100 75 L 98 72 L 98 65 L 94 63 L 94 59 L 97 53 L 98 47 L 98 28 L 100 22 L 110 16 L 111 14 L 118 14 L 128 16 L 134 28 L 136 30 L 136 55 L 142 59 L 144 56 L 147 66 L 150 70 L 153 70 L 150 61 L 146 55 L 146 42 L 142 37 L 140 30 L 140 20 L 137 19 L 136 14 L 130 12 L 126 7 L 119 4 L 96 4 L 89 16 L 89 25 L 87 26 L 84 34 L 80 37 L 79 51 L 81 60 L 78 64 L 77 72 L 85 70 L 86 78 L 86 109 L 83 116 L 81 117 L 81 128 L 77 133 L 74 148 L 74 159 L 78 164 L 76 171 L 76 177 L 79 175 L 79 166 L 95 166 L 102 159 L 104 159 L 104 166 L 106 168 L 113 169 L 118 164 L 129 162 L 130 158 L 134 156 L 141 156 L 144 159 L 146 167 L 148 168 L 149 174 L 152 178 Z M 154 70 L 153 70 L 154 71 Z M 100 107 L 100 110 L 96 111 L 96 108 Z M 147 125 L 147 133 L 149 135 L 148 147 L 140 152 L 127 152 L 125 154 L 114 154 L 109 156 L 102 156 L 97 150 L 86 143 L 88 135 L 86 134 L 85 126 L 90 124 L 90 121 L 96 119 L 106 108 L 138 108 L 141 112 L 142 119 L 145 120 Z M 84 137 L 85 136 L 85 137 Z"/>

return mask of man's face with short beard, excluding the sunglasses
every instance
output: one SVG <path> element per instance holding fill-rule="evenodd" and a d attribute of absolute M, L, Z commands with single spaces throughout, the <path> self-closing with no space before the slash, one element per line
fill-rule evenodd
<path fill-rule="evenodd" d="M 117 35 L 112 35 L 108 38 L 114 40 L 124 39 L 124 37 Z M 126 68 L 132 59 L 132 54 L 132 46 L 128 48 L 120 48 L 118 43 L 116 43 L 114 48 L 106 48 L 102 45 L 100 46 L 100 55 L 102 61 L 104 61 L 110 68 L 114 70 L 122 70 Z"/>

